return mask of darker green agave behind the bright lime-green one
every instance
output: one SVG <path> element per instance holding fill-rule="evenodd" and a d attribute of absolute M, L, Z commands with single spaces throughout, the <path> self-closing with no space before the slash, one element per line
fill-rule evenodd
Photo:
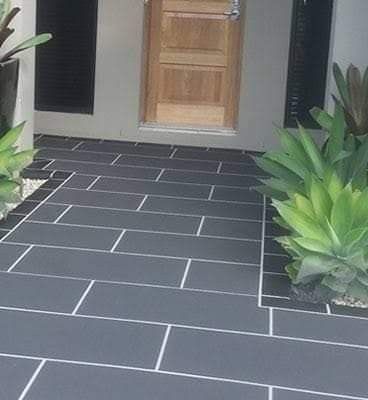
<path fill-rule="evenodd" d="M 306 195 L 305 183 L 313 176 L 328 180 L 334 173 L 343 185 L 351 184 L 353 189 L 367 186 L 368 136 L 360 140 L 345 134 L 343 108 L 336 104 L 333 116 L 314 109 L 312 115 L 328 132 L 328 141 L 319 146 L 303 126 L 299 134 L 277 128 L 281 150 L 271 151 L 256 158 L 257 165 L 271 175 L 263 179 L 263 186 L 257 190 L 277 200 L 286 200 L 295 193 Z"/>

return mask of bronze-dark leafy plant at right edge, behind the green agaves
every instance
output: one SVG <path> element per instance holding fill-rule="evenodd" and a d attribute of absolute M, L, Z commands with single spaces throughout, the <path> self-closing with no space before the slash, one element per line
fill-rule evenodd
<path fill-rule="evenodd" d="M 368 133 L 368 68 L 362 74 L 355 65 L 350 65 L 346 76 L 338 64 L 333 73 L 340 99 L 334 97 L 345 112 L 347 133 L 366 135 Z"/>

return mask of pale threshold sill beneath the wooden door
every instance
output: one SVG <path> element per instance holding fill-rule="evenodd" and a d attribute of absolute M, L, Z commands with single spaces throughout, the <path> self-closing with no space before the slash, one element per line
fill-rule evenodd
<path fill-rule="evenodd" d="M 192 135 L 221 135 L 236 136 L 238 131 L 230 128 L 210 128 L 210 127 L 179 127 L 168 126 L 155 123 L 141 123 L 139 129 L 142 131 L 155 131 L 175 134 L 192 134 Z"/>

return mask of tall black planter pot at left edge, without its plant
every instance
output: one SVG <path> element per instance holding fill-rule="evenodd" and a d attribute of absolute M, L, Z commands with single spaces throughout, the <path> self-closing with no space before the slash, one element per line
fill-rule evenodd
<path fill-rule="evenodd" d="M 19 59 L 0 63 L 0 137 L 13 126 L 18 78 Z"/>

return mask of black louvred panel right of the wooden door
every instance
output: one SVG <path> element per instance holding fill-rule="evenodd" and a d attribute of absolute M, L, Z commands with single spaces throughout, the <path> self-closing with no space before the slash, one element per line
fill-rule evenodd
<path fill-rule="evenodd" d="M 328 71 L 333 0 L 294 0 L 286 96 L 285 126 L 299 120 L 318 128 L 309 115 L 324 107 Z"/>

